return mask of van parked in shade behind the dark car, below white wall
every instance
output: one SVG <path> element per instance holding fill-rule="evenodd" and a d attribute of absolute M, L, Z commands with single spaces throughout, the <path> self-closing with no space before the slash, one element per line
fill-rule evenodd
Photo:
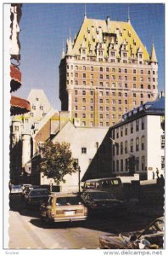
<path fill-rule="evenodd" d="M 89 179 L 84 182 L 81 187 L 83 192 L 87 189 L 109 191 L 115 195 L 117 199 L 122 199 L 123 184 L 120 177 L 104 177 L 97 179 Z"/>

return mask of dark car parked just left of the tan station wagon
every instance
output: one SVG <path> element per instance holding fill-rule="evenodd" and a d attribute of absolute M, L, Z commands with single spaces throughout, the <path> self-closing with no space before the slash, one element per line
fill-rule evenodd
<path fill-rule="evenodd" d="M 31 189 L 29 194 L 25 196 L 25 201 L 29 206 L 39 206 L 42 202 L 48 201 L 48 189 Z"/>

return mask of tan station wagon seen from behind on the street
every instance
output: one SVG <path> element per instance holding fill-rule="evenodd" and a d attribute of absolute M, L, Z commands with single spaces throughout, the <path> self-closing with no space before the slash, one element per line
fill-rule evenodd
<path fill-rule="evenodd" d="M 49 223 L 83 221 L 87 219 L 87 207 L 80 195 L 53 193 L 48 203 L 41 206 L 41 218 Z"/>

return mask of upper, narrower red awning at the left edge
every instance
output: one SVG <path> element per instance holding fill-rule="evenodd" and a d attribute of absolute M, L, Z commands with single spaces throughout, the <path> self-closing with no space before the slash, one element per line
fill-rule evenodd
<path fill-rule="evenodd" d="M 18 90 L 21 86 L 21 73 L 18 67 L 10 65 L 10 92 Z"/>

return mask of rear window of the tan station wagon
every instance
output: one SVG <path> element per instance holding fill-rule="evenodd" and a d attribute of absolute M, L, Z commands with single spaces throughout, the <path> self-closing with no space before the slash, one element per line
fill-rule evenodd
<path fill-rule="evenodd" d="M 56 205 L 57 206 L 75 206 L 81 205 L 82 201 L 79 196 L 67 196 L 67 197 L 59 197 L 57 198 Z"/>

